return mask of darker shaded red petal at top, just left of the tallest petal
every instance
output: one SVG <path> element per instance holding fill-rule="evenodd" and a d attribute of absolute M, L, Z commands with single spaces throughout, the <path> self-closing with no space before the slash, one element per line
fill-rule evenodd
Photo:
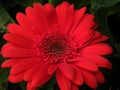
<path fill-rule="evenodd" d="M 44 8 L 46 11 L 46 17 L 49 23 L 50 30 L 56 29 L 58 25 L 58 21 L 57 21 L 57 14 L 56 14 L 54 6 L 51 4 L 45 4 Z"/>

